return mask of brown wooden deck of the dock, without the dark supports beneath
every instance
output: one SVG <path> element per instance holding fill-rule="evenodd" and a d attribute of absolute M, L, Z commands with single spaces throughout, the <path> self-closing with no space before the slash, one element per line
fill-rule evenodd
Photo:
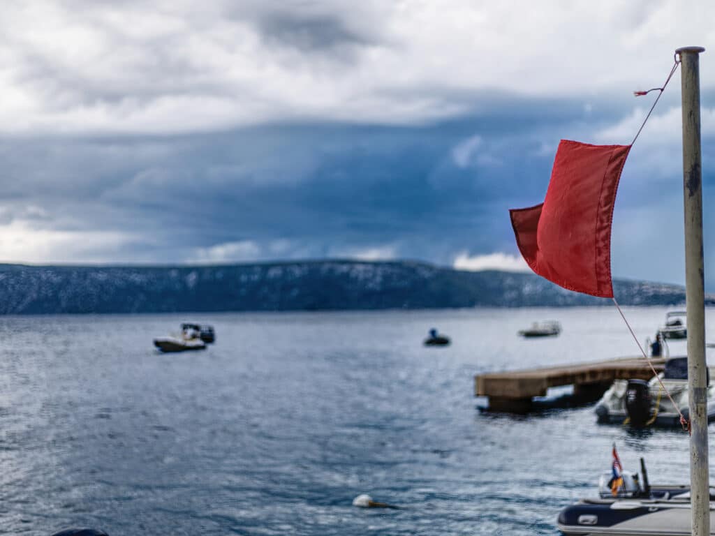
<path fill-rule="evenodd" d="M 665 359 L 651 359 L 661 372 Z M 478 396 L 516 398 L 543 397 L 549 387 L 579 384 L 607 384 L 615 379 L 650 379 L 653 372 L 642 357 L 544 367 L 541 369 L 493 372 L 475 377 Z"/>

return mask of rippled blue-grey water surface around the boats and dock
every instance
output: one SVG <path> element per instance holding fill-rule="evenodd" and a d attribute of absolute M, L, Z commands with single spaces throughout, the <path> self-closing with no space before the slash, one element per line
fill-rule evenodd
<path fill-rule="evenodd" d="M 665 312 L 626 310 L 641 341 Z M 561 336 L 516 336 L 541 319 Z M 185 320 L 217 343 L 155 352 Z M 430 327 L 452 346 L 423 347 Z M 474 374 L 636 352 L 612 307 L 6 317 L 0 533 L 554 535 L 611 442 L 626 470 L 687 482 L 688 437 L 593 407 L 483 413 Z M 404 508 L 352 507 L 364 492 Z"/>

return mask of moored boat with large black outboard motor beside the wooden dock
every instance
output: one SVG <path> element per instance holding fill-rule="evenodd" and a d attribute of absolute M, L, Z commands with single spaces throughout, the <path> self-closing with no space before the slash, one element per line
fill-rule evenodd
<path fill-rule="evenodd" d="M 707 374 L 708 420 L 715 419 L 715 384 Z M 666 360 L 661 382 L 671 394 L 677 407 L 663 391 L 658 377 L 649 382 L 643 379 L 616 379 L 596 405 L 598 422 L 626 424 L 633 427 L 651 425 L 679 427 L 678 410 L 687 418 L 688 407 L 688 358 L 671 357 Z"/>

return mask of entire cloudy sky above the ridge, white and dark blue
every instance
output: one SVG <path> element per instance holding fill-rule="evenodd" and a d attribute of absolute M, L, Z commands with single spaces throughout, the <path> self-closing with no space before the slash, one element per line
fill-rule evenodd
<path fill-rule="evenodd" d="M 0 262 L 423 259 L 523 269 L 558 141 L 628 144 L 708 1 L 9 1 Z M 711 54 L 713 54 L 711 56 Z M 680 76 L 633 147 L 616 277 L 682 283 Z"/>

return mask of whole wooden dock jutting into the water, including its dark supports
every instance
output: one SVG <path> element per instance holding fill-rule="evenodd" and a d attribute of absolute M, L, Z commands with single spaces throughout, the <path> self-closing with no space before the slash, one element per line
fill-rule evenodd
<path fill-rule="evenodd" d="M 656 371 L 665 359 L 651 359 Z M 533 397 L 546 396 L 549 387 L 573 385 L 573 396 L 583 402 L 597 400 L 614 379 L 651 379 L 653 371 L 643 357 L 578 363 L 542 369 L 493 372 L 475 376 L 475 394 L 489 398 L 489 410 L 527 412 Z"/>

